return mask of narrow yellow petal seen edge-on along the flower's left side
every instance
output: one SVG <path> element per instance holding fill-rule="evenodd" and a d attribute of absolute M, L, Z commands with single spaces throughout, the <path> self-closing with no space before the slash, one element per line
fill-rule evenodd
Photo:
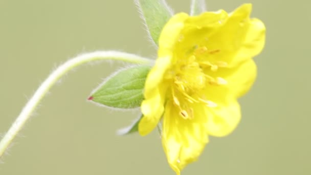
<path fill-rule="evenodd" d="M 157 126 L 163 111 L 167 85 L 163 81 L 166 71 L 172 63 L 172 48 L 184 26 L 186 13 L 174 15 L 164 26 L 159 38 L 158 59 L 150 70 L 145 83 L 145 100 L 142 102 L 141 111 L 144 117 L 139 123 L 139 133 L 144 136 Z"/>

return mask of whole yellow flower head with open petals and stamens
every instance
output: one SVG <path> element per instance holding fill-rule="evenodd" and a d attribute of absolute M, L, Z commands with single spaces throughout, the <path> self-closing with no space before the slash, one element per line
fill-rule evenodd
<path fill-rule="evenodd" d="M 139 133 L 163 118 L 162 144 L 180 171 L 201 155 L 208 135 L 230 134 L 240 121 L 237 98 L 256 78 L 252 59 L 264 45 L 265 27 L 245 4 L 199 16 L 174 15 L 165 25 L 156 64 L 145 83 Z"/>

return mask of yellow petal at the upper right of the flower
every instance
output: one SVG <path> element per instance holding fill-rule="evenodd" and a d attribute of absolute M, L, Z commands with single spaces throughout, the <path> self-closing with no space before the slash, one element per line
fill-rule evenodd
<path fill-rule="evenodd" d="M 230 13 L 227 20 L 219 21 L 223 26 L 212 33 L 204 46 L 219 50 L 209 60 L 226 61 L 229 67 L 257 55 L 265 41 L 265 27 L 259 19 L 250 19 L 251 4 L 245 4 Z"/>

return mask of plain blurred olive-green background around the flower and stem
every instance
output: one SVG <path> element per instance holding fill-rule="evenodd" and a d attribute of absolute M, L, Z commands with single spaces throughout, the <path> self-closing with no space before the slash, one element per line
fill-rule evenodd
<path fill-rule="evenodd" d="M 189 12 L 190 1 L 168 3 Z M 240 99 L 243 118 L 233 134 L 211 138 L 183 174 L 311 174 L 311 3 L 208 0 L 208 10 L 253 3 L 266 45 L 255 58 L 258 79 Z M 120 50 L 155 57 L 133 1 L 0 0 L 0 133 L 57 65 L 83 52 Z M 0 174 L 174 174 L 156 130 L 116 135 L 137 111 L 86 102 L 124 63 L 101 62 L 72 71 L 53 87 L 14 140 Z"/>

